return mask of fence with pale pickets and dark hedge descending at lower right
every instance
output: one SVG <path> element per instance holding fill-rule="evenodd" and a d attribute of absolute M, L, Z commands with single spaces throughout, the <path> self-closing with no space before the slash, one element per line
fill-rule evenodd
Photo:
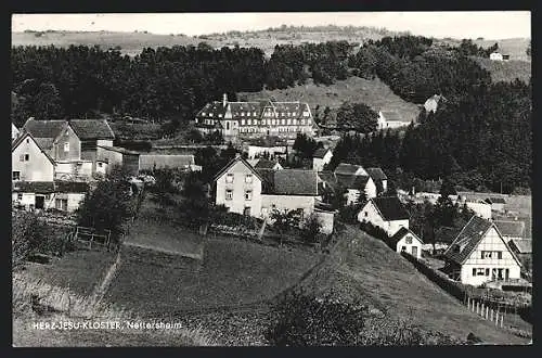
<path fill-rule="evenodd" d="M 420 272 L 457 298 L 457 301 L 481 318 L 494 322 L 495 327 L 508 330 L 512 329 L 517 335 L 525 337 L 531 336 L 531 334 L 526 331 L 529 327 L 525 322 L 532 323 L 531 304 L 511 304 L 495 299 L 490 296 L 489 290 L 469 290 L 462 283 L 448 278 L 446 273 L 428 267 L 423 260 L 408 253 L 401 253 L 401 255 L 412 263 Z M 486 294 L 482 292 L 486 292 Z"/>

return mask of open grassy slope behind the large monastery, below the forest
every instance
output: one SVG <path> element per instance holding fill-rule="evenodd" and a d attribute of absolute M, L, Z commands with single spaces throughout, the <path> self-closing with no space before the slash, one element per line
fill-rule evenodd
<path fill-rule="evenodd" d="M 332 108 L 332 115 L 346 102 L 365 103 L 374 111 L 397 111 L 408 120 L 415 120 L 420 114 L 416 104 L 403 101 L 395 94 L 380 79 L 373 80 L 350 77 L 346 80 L 337 80 L 333 86 L 319 86 L 309 81 L 305 86 L 296 86 L 283 90 L 263 90 L 260 92 L 240 92 L 240 99 L 256 101 L 260 99 L 274 98 L 276 101 L 309 101 L 312 114 L 315 106 L 320 105 L 321 116 L 326 106 Z"/>

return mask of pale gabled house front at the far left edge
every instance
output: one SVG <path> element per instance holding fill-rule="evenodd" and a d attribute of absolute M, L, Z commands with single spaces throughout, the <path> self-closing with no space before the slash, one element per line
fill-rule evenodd
<path fill-rule="evenodd" d="M 13 181 L 53 181 L 54 161 L 28 132 L 18 137 L 11 146 Z"/>

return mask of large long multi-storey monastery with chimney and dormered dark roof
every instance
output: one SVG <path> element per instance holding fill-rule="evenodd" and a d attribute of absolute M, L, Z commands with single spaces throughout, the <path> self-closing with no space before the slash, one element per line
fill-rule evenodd
<path fill-rule="evenodd" d="M 313 136 L 312 113 L 305 102 L 272 100 L 207 103 L 195 116 L 195 126 L 203 133 L 219 130 L 225 140 L 276 136 L 295 139 L 297 133 Z M 217 127 L 219 125 L 219 127 Z"/>

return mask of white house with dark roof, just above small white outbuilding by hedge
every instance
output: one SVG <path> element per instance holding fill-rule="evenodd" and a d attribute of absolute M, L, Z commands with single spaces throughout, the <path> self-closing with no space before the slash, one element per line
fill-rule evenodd
<path fill-rule="evenodd" d="M 397 196 L 378 196 L 371 199 L 358 214 L 359 222 L 371 222 L 382 228 L 388 236 L 404 227 L 409 228 L 410 215 Z"/>

